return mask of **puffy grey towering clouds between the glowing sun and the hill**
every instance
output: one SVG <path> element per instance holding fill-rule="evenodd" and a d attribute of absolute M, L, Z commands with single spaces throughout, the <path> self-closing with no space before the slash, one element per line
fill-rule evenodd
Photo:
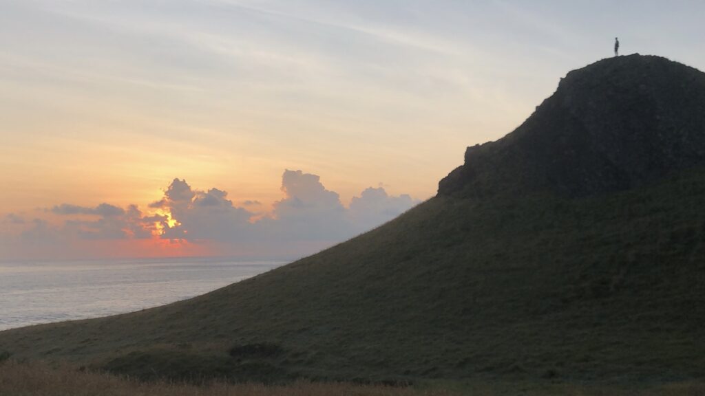
<path fill-rule="evenodd" d="M 235 206 L 226 191 L 195 190 L 185 180 L 174 179 L 164 199 L 152 205 L 168 209 L 176 221 L 164 227 L 161 237 L 277 247 L 320 242 L 324 246 L 381 225 L 418 203 L 407 194 L 393 197 L 382 187 L 369 187 L 346 209 L 338 193 L 326 189 L 318 175 L 287 169 L 281 180 L 284 197 L 274 202 L 270 214 L 257 216 L 243 207 L 253 202 Z"/>

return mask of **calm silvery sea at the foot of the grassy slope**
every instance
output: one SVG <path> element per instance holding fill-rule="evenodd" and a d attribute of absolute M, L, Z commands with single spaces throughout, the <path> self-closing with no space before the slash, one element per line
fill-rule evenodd
<path fill-rule="evenodd" d="M 282 264 L 199 258 L 0 262 L 0 330 L 157 307 Z"/>

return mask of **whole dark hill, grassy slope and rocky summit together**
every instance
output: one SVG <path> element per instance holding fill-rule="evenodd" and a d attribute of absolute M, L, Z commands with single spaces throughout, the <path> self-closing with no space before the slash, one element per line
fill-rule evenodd
<path fill-rule="evenodd" d="M 0 351 L 140 378 L 705 379 L 704 109 L 698 70 L 599 61 L 380 228 Z"/>

